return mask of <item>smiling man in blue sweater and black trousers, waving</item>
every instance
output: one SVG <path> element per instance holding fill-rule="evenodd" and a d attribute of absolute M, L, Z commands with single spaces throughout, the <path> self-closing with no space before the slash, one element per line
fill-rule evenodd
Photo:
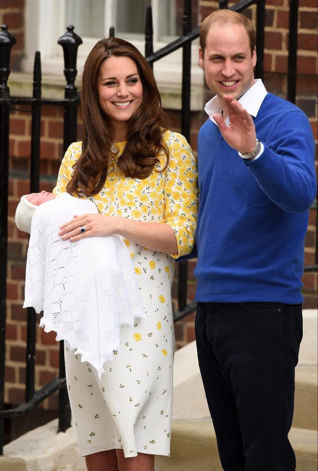
<path fill-rule="evenodd" d="M 255 30 L 218 10 L 200 31 L 216 96 L 198 139 L 196 341 L 225 471 L 291 471 L 301 276 L 315 197 L 304 113 L 255 80 Z"/>

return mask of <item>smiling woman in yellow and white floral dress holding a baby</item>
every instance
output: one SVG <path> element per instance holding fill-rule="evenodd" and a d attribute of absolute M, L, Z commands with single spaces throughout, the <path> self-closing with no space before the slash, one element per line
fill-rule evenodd
<path fill-rule="evenodd" d="M 122 327 L 121 348 L 101 381 L 66 348 L 79 454 L 89 471 L 153 471 L 154 455 L 170 454 L 171 284 L 174 259 L 194 244 L 196 162 L 185 138 L 166 129 L 153 72 L 130 43 L 95 45 L 81 104 L 83 139 L 67 150 L 54 192 L 88 198 L 99 214 L 75 215 L 59 234 L 71 241 L 119 234 L 146 319 Z"/>

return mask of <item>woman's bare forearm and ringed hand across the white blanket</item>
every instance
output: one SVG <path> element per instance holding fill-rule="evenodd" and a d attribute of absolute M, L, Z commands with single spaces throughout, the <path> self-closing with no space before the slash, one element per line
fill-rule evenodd
<path fill-rule="evenodd" d="M 81 227 L 86 229 L 83 234 L 80 233 Z M 83 237 L 106 237 L 119 234 L 156 252 L 178 253 L 173 229 L 168 224 L 160 222 L 135 221 L 121 216 L 103 214 L 84 214 L 74 216 L 74 219 L 63 224 L 60 229 L 59 235 L 62 239 L 70 239 L 71 242 Z"/>

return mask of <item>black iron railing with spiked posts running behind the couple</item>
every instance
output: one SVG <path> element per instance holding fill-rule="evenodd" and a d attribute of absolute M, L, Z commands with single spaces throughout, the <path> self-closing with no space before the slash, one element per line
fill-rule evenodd
<path fill-rule="evenodd" d="M 265 28 L 265 0 L 242 0 L 231 7 L 232 10 L 242 11 L 252 4 L 256 4 L 257 14 L 257 51 L 258 60 L 256 76 L 264 75 L 264 28 Z M 226 0 L 219 1 L 220 8 L 227 7 Z M 287 98 L 295 101 L 296 92 L 296 58 L 297 58 L 297 16 L 298 0 L 290 0 L 290 34 L 289 34 L 289 59 L 288 59 L 288 93 Z M 9 161 L 9 113 L 10 107 L 15 105 L 30 105 L 32 109 L 31 127 L 31 170 L 30 191 L 39 189 L 39 164 L 40 164 L 40 123 L 41 107 L 43 105 L 64 107 L 64 135 L 63 148 L 66 151 L 71 142 L 77 138 L 77 109 L 79 94 L 75 87 L 77 75 L 76 60 L 77 50 L 81 39 L 74 33 L 73 26 L 67 27 L 67 32 L 58 40 L 64 52 L 64 75 L 67 81 L 65 97 L 63 100 L 44 100 L 41 98 L 41 61 L 40 53 L 35 53 L 33 96 L 29 99 L 11 98 L 7 87 L 10 74 L 9 59 L 15 38 L 8 32 L 7 26 L 1 26 L 0 32 L 0 454 L 2 454 L 4 437 L 4 419 L 26 414 L 44 399 L 59 391 L 58 430 L 65 431 L 70 426 L 70 407 L 66 391 L 63 344 L 60 345 L 59 377 L 47 384 L 41 390 L 35 392 L 35 332 L 36 316 L 33 309 L 27 310 L 27 349 L 26 349 L 26 398 L 25 402 L 14 409 L 4 410 L 4 373 L 5 373 L 5 319 L 6 319 L 6 277 L 7 277 L 7 202 L 8 202 L 8 161 Z M 109 36 L 114 36 L 114 28 L 111 27 Z M 182 75 L 182 109 L 181 132 L 187 140 L 190 138 L 190 67 L 191 67 L 191 43 L 199 36 L 199 27 L 191 26 L 191 0 L 184 0 L 183 35 L 157 52 L 153 52 L 153 26 L 151 7 L 146 10 L 145 27 L 145 56 L 153 65 L 155 61 L 176 51 L 183 49 L 183 75 Z M 317 255 L 317 251 L 316 251 Z M 305 271 L 316 271 L 316 265 L 306 267 Z M 187 262 L 179 263 L 178 279 L 178 311 L 174 312 L 174 319 L 178 320 L 192 313 L 195 302 L 187 303 Z"/>

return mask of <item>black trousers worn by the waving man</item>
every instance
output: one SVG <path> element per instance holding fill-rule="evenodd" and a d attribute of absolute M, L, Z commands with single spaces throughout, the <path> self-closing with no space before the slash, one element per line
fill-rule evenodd
<path fill-rule="evenodd" d="M 301 305 L 198 303 L 198 359 L 225 471 L 294 471 Z"/>

